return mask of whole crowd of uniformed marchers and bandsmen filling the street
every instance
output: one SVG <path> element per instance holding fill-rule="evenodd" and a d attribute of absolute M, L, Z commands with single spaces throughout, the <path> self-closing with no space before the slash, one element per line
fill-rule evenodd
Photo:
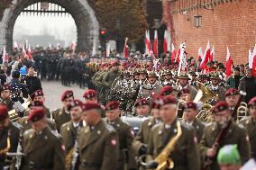
<path fill-rule="evenodd" d="M 248 64 L 226 76 L 200 62 L 14 52 L 0 75 L 0 169 L 239 170 L 256 158 L 256 78 Z M 85 93 L 63 92 L 50 111 L 41 80 Z"/>

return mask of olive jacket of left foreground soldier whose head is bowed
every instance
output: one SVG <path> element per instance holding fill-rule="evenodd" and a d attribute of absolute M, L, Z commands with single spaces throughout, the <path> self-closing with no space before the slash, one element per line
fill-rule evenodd
<path fill-rule="evenodd" d="M 46 127 L 40 134 L 26 130 L 23 134 L 23 163 L 21 170 L 64 170 L 65 147 L 59 135 Z"/>

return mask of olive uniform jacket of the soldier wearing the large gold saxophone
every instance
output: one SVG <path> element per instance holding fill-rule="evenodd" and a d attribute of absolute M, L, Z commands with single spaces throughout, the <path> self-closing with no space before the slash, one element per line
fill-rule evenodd
<path fill-rule="evenodd" d="M 151 139 L 149 144 L 149 154 L 157 157 L 164 149 L 169 140 L 177 135 L 178 127 L 175 120 L 170 127 L 160 123 L 151 129 Z M 197 138 L 195 130 L 187 123 L 180 123 L 182 134 L 175 144 L 174 150 L 169 157 L 174 162 L 173 170 L 200 170 L 200 157 L 197 150 Z"/>

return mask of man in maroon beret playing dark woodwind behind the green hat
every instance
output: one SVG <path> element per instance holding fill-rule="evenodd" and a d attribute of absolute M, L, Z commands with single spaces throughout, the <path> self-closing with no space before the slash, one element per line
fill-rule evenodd
<path fill-rule="evenodd" d="M 251 157 L 250 142 L 246 130 L 242 125 L 233 121 L 228 103 L 220 101 L 215 104 L 213 109 L 214 121 L 206 126 L 203 137 L 200 141 L 200 152 L 202 157 L 210 157 L 213 163 L 209 166 L 212 170 L 219 170 L 216 162 L 218 148 L 224 145 L 237 144 L 241 155 L 242 165 Z M 222 134 L 222 137 L 219 135 Z M 216 138 L 218 148 L 215 148 Z"/>

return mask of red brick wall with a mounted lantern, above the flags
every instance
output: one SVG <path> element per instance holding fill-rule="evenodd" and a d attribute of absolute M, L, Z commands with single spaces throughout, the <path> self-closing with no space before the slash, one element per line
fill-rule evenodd
<path fill-rule="evenodd" d="M 170 28 L 176 49 L 187 40 L 189 56 L 197 58 L 197 49 L 215 45 L 215 58 L 224 62 L 228 46 L 234 64 L 248 62 L 248 50 L 256 43 L 255 0 L 178 0 L 163 2 L 163 21 Z M 206 8 L 214 9 L 204 9 Z M 194 15 L 202 15 L 202 27 L 194 27 Z M 187 14 L 186 14 L 187 11 Z"/>

